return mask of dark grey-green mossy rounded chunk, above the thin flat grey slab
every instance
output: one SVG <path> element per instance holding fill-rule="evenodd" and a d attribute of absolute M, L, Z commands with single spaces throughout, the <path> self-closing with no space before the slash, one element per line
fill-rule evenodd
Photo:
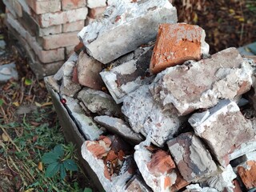
<path fill-rule="evenodd" d="M 92 90 L 84 87 L 78 93 L 78 99 L 82 101 L 88 110 L 99 115 L 118 117 L 121 114 L 121 106 L 118 106 L 109 94 L 100 90 Z"/>

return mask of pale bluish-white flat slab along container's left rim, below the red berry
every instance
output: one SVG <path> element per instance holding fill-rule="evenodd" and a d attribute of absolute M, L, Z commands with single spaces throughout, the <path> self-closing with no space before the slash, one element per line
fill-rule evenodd
<path fill-rule="evenodd" d="M 103 131 L 96 126 L 93 119 L 89 116 L 86 116 L 78 104 L 78 99 L 66 97 L 63 95 L 64 99 L 66 99 L 66 110 L 69 111 L 70 116 L 74 119 L 76 125 L 82 130 L 82 134 L 86 139 L 96 140 Z"/>

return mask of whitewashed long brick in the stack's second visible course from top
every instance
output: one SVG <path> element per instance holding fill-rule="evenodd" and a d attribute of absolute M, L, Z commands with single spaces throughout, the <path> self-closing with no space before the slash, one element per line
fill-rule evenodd
<path fill-rule="evenodd" d="M 78 8 L 75 10 L 66 10 L 56 13 L 46 13 L 34 15 L 35 20 L 41 27 L 48 27 L 54 25 L 60 25 L 67 22 L 77 22 L 82 19 L 86 19 L 88 10 L 86 7 Z"/>

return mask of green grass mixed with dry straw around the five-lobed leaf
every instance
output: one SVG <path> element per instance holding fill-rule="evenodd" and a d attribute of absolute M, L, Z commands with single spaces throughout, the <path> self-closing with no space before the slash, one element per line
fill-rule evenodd
<path fill-rule="evenodd" d="M 78 171 L 66 169 L 63 179 L 60 170 L 46 175 L 50 165 L 43 164 L 42 157 L 49 152 L 54 153 L 54 146 L 61 146 L 62 159 L 77 162 L 74 145 L 65 142 L 58 121 L 53 122 L 50 118 L 52 115 L 56 116 L 52 106 L 47 106 L 32 114 L 24 114 L 18 122 L 4 125 L 0 119 L 0 130 L 5 136 L 3 141 L 0 140 L 0 157 L 6 159 L 10 170 L 18 174 L 15 179 L 22 183 L 18 191 L 90 192 L 90 188 L 79 186 L 79 178 L 86 178 L 79 166 Z"/>

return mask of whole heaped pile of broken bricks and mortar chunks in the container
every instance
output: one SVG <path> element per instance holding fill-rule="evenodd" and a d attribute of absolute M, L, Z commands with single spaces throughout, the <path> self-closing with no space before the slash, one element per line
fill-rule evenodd
<path fill-rule="evenodd" d="M 210 55 L 168 0 L 117 1 L 45 78 L 106 191 L 254 191 L 256 65 Z"/>

